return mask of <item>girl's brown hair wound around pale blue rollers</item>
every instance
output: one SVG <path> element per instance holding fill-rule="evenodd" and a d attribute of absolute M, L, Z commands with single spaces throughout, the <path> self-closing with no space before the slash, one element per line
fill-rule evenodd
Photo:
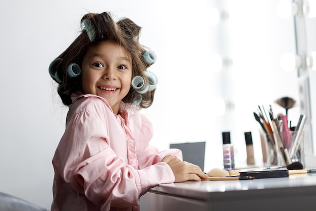
<path fill-rule="evenodd" d="M 146 68 L 151 64 L 144 59 L 146 47 L 139 43 L 139 32 L 141 27 L 132 20 L 125 18 L 115 23 L 108 12 L 101 14 L 89 13 L 82 17 L 81 25 L 88 21 L 90 29 L 93 30 L 93 39 L 90 41 L 89 29 L 83 28 L 81 34 L 57 59 L 61 59 L 56 65 L 56 74 L 60 78 L 58 94 L 65 105 L 72 104 L 71 95 L 73 93 L 83 93 L 81 86 L 81 75 L 71 77 L 67 71 L 68 66 L 72 63 L 82 65 L 82 60 L 87 52 L 88 47 L 97 45 L 102 40 L 113 41 L 126 49 L 132 59 L 132 78 L 139 75 L 148 83 L 145 76 Z M 141 95 L 142 101 L 139 106 L 142 108 L 149 107 L 153 102 L 155 89 L 149 90 L 144 94 L 137 93 L 131 86 L 128 94 L 123 98 L 124 103 L 132 104 L 137 97 Z"/>

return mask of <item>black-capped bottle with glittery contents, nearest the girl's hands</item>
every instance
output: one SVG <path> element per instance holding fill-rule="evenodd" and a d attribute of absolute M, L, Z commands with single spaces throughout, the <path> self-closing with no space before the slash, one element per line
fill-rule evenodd
<path fill-rule="evenodd" d="M 234 146 L 230 142 L 230 132 L 223 132 L 223 164 L 227 171 L 235 168 Z"/>

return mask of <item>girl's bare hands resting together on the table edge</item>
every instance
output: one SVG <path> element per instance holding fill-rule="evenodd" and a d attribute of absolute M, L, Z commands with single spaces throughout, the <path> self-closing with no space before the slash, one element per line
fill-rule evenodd
<path fill-rule="evenodd" d="M 167 155 L 162 159 L 166 162 L 175 175 L 175 182 L 184 182 L 188 180 L 201 181 L 201 178 L 207 178 L 208 176 L 204 174 L 198 165 L 192 163 L 181 161 L 178 157 L 174 155 Z"/>

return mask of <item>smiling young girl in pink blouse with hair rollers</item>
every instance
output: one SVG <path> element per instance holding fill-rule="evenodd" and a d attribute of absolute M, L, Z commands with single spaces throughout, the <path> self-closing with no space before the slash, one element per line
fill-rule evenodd
<path fill-rule="evenodd" d="M 181 151 L 148 144 L 152 126 L 139 113 L 152 104 L 155 54 L 140 27 L 110 13 L 87 14 L 82 32 L 49 66 L 69 106 L 52 164 L 52 211 L 138 210 L 140 196 L 162 184 L 206 178 Z"/>

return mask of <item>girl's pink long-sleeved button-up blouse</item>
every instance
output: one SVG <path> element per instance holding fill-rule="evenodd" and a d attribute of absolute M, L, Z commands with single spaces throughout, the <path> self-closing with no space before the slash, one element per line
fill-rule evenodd
<path fill-rule="evenodd" d="M 175 181 L 161 160 L 181 151 L 149 145 L 152 125 L 136 107 L 122 102 L 119 113 L 101 97 L 74 96 L 52 159 L 51 211 L 139 210 L 141 195 Z"/>

